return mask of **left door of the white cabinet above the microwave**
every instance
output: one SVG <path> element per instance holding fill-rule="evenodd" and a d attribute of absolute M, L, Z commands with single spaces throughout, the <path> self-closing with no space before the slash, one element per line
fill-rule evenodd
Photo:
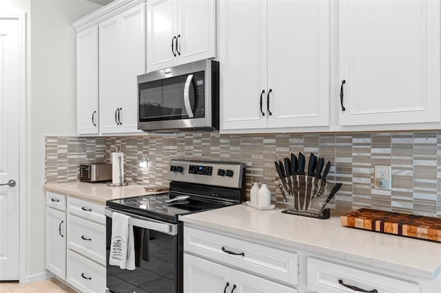
<path fill-rule="evenodd" d="M 147 72 L 178 64 L 176 0 L 147 1 Z"/>

